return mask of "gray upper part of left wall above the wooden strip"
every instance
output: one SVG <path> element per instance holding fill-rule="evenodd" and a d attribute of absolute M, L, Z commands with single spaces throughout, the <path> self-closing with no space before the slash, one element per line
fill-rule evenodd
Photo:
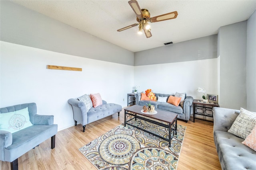
<path fill-rule="evenodd" d="M 1 41 L 112 63 L 134 65 L 132 51 L 10 1 L 1 0 L 0 3 Z"/>

